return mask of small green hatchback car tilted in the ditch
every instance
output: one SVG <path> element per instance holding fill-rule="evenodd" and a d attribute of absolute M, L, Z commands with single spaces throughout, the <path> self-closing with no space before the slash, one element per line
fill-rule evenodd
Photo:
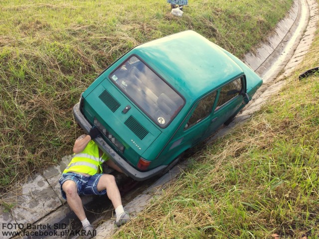
<path fill-rule="evenodd" d="M 76 121 L 130 177 L 166 172 L 179 156 L 229 123 L 262 79 L 238 58 L 194 31 L 139 45 L 86 89 Z"/>

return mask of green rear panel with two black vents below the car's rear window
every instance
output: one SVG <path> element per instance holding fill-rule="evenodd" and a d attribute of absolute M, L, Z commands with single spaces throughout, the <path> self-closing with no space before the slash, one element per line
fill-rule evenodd
<path fill-rule="evenodd" d="M 108 144 L 133 165 L 161 133 L 108 79 L 85 98 L 84 115 L 99 127 Z"/>

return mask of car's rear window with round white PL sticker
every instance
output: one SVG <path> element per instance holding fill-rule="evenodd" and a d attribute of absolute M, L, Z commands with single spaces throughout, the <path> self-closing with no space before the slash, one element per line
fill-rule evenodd
<path fill-rule="evenodd" d="M 117 68 L 110 79 L 162 128 L 184 104 L 183 99 L 136 56 Z"/>

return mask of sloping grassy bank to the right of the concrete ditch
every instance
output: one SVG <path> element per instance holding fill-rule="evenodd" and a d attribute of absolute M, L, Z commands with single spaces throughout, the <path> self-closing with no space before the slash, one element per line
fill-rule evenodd
<path fill-rule="evenodd" d="M 114 238 L 319 238 L 319 31 L 284 89 Z"/>

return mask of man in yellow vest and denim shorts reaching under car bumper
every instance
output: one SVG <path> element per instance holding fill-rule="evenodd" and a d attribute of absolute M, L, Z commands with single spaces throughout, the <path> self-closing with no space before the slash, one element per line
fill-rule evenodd
<path fill-rule="evenodd" d="M 82 195 L 107 194 L 115 208 L 115 225 L 120 227 L 130 220 L 129 214 L 124 211 L 114 176 L 102 173 L 103 162 L 123 172 L 92 140 L 99 135 L 100 131 L 93 126 L 88 135 L 83 134 L 76 139 L 73 158 L 59 180 L 62 197 L 67 200 L 70 208 L 81 221 L 87 235 L 86 239 L 93 237 L 93 226 L 85 216 L 80 198 Z"/>

